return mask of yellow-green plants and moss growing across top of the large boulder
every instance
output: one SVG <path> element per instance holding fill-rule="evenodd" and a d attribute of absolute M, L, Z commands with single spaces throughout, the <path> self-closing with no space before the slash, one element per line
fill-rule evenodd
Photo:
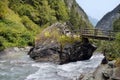
<path fill-rule="evenodd" d="M 38 36 L 39 37 L 37 37 L 36 42 L 42 44 L 45 43 L 46 41 L 47 43 L 45 44 L 56 42 L 62 46 L 65 46 L 66 44 L 73 44 L 74 42 L 78 42 L 81 40 L 80 37 L 78 36 L 73 37 L 60 33 L 58 28 L 47 29 Z"/>

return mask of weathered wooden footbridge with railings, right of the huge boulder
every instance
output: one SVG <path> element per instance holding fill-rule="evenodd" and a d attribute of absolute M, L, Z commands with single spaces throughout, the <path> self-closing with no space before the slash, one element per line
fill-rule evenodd
<path fill-rule="evenodd" d="M 78 31 L 76 31 L 78 32 Z M 115 32 L 108 30 L 100 30 L 100 29 L 80 29 L 80 36 L 84 38 L 92 38 L 98 40 L 115 40 Z"/>

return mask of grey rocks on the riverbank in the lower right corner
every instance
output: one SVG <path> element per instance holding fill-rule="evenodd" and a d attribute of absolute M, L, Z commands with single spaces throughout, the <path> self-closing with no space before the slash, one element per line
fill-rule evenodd
<path fill-rule="evenodd" d="M 115 61 L 98 66 L 93 74 L 80 76 L 79 80 L 120 80 L 120 68 L 115 66 Z"/>

